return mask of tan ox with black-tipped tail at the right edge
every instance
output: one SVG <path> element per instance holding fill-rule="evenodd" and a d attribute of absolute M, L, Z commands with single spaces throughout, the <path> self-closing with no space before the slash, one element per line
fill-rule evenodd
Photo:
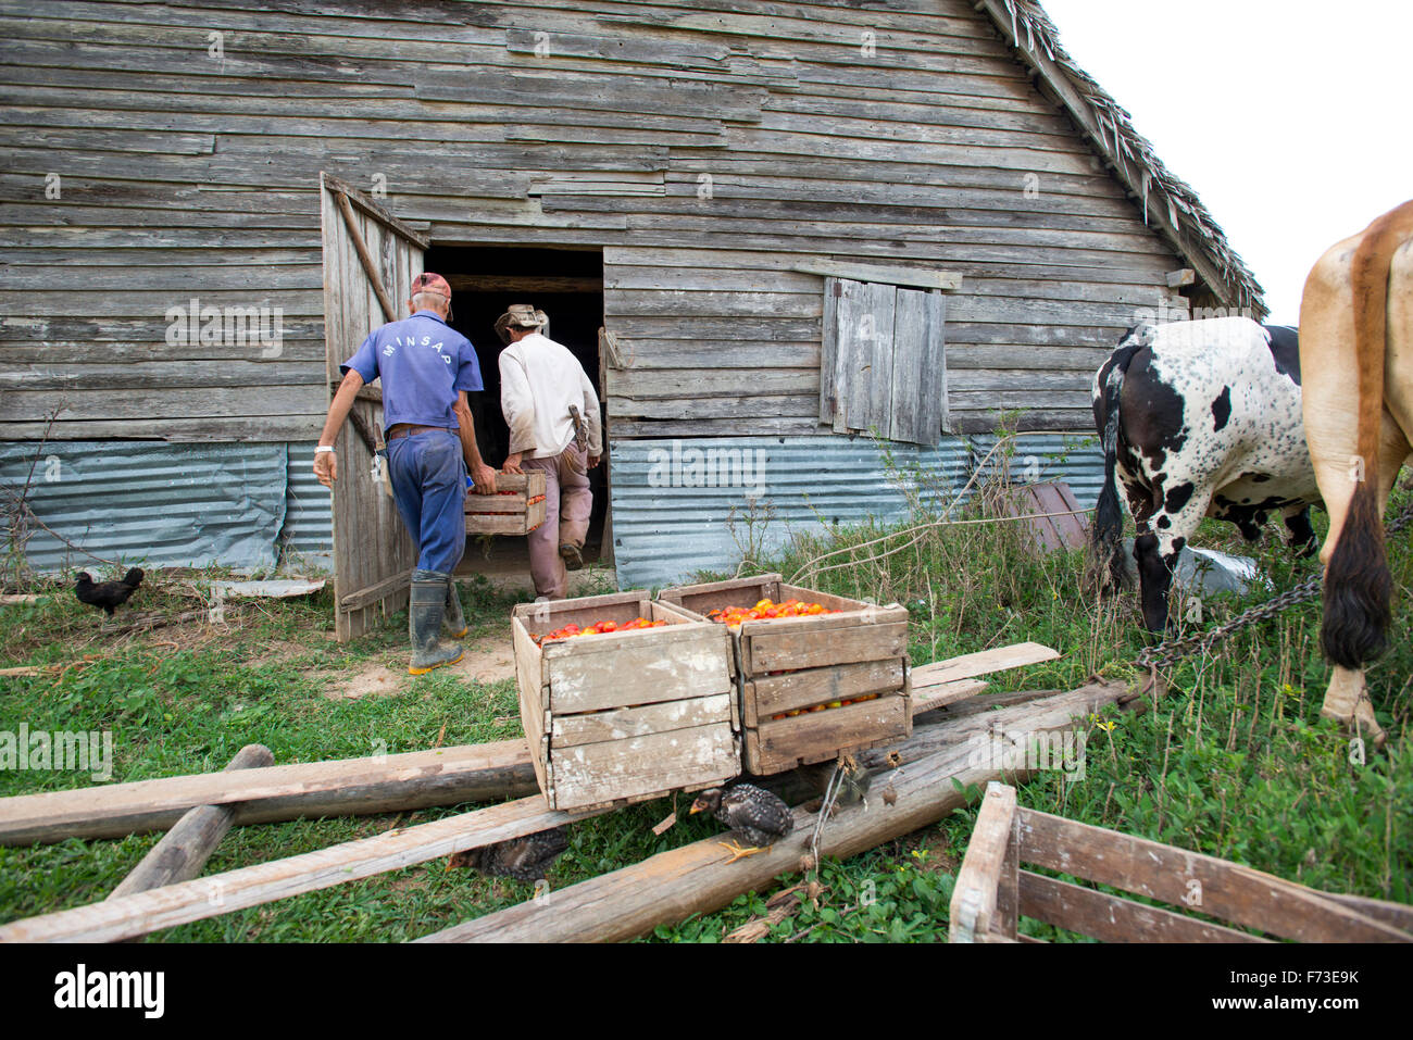
<path fill-rule="evenodd" d="M 1413 441 L 1413 202 L 1334 246 L 1306 281 L 1300 369 L 1310 458 L 1330 510 L 1321 715 L 1376 743 L 1364 668 L 1390 625 L 1383 510 Z"/>

